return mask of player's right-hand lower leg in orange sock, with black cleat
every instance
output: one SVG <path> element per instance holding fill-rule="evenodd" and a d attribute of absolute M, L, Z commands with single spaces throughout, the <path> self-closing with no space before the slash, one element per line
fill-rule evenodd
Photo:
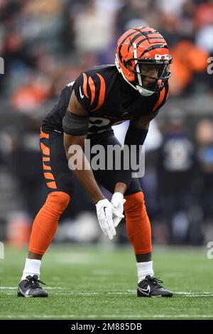
<path fill-rule="evenodd" d="M 173 293 L 164 289 L 159 279 L 155 279 L 151 257 L 151 224 L 146 212 L 144 195 L 138 191 L 138 180 L 133 179 L 124 198 L 126 231 L 136 254 L 138 270 L 138 297 L 171 297 Z"/>

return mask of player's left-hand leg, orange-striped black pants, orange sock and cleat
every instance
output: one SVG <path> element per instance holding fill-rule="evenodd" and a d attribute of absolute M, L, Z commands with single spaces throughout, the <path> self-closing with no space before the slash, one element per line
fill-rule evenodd
<path fill-rule="evenodd" d="M 48 296 L 40 288 L 40 264 L 58 227 L 62 212 L 67 208 L 74 192 L 75 178 L 68 168 L 62 134 L 40 132 L 43 154 L 43 172 L 49 193 L 45 204 L 33 222 L 28 258 L 23 269 L 18 296 Z M 26 294 L 27 293 L 27 294 Z"/>

